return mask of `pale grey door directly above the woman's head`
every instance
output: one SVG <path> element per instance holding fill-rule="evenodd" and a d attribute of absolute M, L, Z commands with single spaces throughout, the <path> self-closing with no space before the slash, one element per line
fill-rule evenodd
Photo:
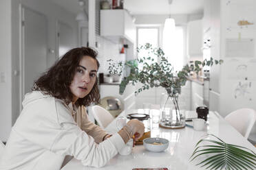
<path fill-rule="evenodd" d="M 75 47 L 74 31 L 70 25 L 58 21 L 58 57 Z"/>

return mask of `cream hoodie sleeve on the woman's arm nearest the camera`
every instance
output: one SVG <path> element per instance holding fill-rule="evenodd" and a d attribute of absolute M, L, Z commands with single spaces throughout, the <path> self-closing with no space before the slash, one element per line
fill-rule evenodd
<path fill-rule="evenodd" d="M 125 146 L 122 137 L 117 133 L 99 144 L 95 143 L 94 138 L 81 130 L 74 123 L 68 110 L 58 102 L 56 111 L 62 130 L 52 143 L 51 151 L 74 156 L 85 166 L 103 167 Z"/>

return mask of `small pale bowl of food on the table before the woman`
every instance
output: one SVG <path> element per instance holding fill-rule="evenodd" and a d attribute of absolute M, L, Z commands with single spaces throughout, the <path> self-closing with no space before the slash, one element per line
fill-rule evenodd
<path fill-rule="evenodd" d="M 161 145 L 154 145 L 153 143 L 162 143 Z M 169 141 L 166 138 L 145 138 L 143 145 L 149 151 L 160 152 L 167 149 Z"/>

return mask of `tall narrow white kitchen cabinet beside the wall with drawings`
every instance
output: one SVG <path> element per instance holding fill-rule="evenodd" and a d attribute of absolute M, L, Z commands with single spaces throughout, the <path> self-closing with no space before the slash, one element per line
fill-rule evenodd
<path fill-rule="evenodd" d="M 211 57 L 220 60 L 220 1 L 204 1 L 203 39 L 204 55 L 203 59 L 209 60 Z M 213 65 L 209 68 L 209 109 L 220 112 L 220 65 Z"/>

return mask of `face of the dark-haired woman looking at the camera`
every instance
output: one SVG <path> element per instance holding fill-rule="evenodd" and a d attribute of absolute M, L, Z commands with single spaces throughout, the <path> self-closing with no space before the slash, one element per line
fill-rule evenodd
<path fill-rule="evenodd" d="M 98 66 L 96 60 L 90 56 L 83 56 L 70 84 L 73 102 L 89 94 L 96 82 L 97 71 Z"/>

